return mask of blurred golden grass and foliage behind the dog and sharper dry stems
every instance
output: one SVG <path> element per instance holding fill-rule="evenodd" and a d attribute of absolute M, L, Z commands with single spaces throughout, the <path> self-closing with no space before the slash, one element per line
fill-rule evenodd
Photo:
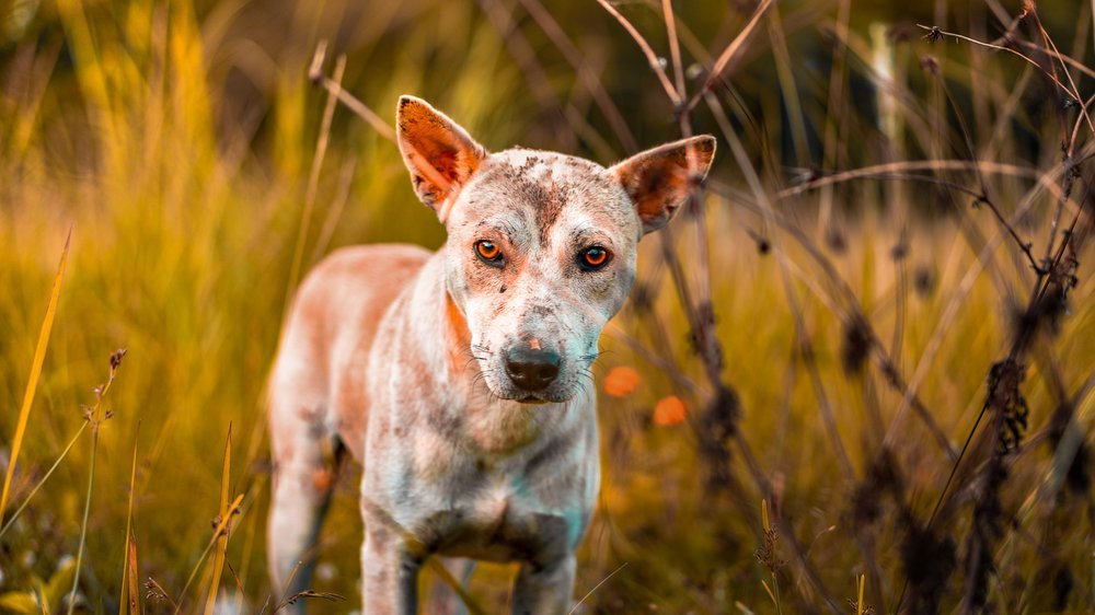
<path fill-rule="evenodd" d="M 667 56 L 660 3 L 615 5 Z M 754 9 L 747 0 L 675 3 L 690 91 Z M 774 207 L 831 259 L 881 338 L 895 339 L 894 361 L 906 378 L 921 357 L 932 359 L 921 395 L 953 446 L 975 423 L 988 370 L 1004 353 L 1012 316 L 1029 289 L 1022 254 L 1008 245 L 982 259 L 1000 227 L 983 209 L 970 209 L 967 195 L 938 185 L 864 181 L 820 197 L 775 197 L 826 172 L 968 159 L 964 128 L 983 160 L 1039 173 L 1058 164 L 1064 101 L 1038 71 L 953 38 L 932 44 L 915 25 L 991 40 L 1019 10 L 995 0 L 779 2 L 715 89 Z M 1079 0 L 1038 5 L 1061 51 L 1086 66 L 1093 63 L 1091 11 Z M 1028 24 L 1019 32 L 1035 38 Z M 229 423 L 232 489 L 246 494 L 229 561 L 249 608 L 257 611 L 266 599 L 262 397 L 296 283 L 302 216 L 309 216 L 304 268 L 339 245 L 436 247 L 443 241 L 392 143 L 345 107 L 321 135 L 326 93 L 307 79 L 320 40 L 330 42 L 324 70 L 331 74 L 333 58 L 344 54 L 343 85 L 389 123 L 397 96 L 413 93 L 489 149 L 520 143 L 604 164 L 679 137 L 673 108 L 642 53 L 592 0 L 0 0 L 0 460 L 10 454 L 5 441 L 68 229 L 73 236 L 13 502 L 26 498 L 78 429 L 80 405 L 93 402 L 91 387 L 105 380 L 111 351 L 129 351 L 111 392 L 115 416 L 102 432 L 81 572 L 92 612 L 114 611 L 120 595 L 134 445 L 141 578 L 177 592 L 218 512 Z M 1091 77 L 1074 72 L 1079 91 L 1090 91 Z M 763 543 L 760 501 L 774 494 L 779 517 L 788 520 L 839 604 L 854 595 L 855 576 L 866 573 L 868 601 L 892 611 L 908 572 L 899 553 L 906 530 L 884 523 L 861 534 L 849 515 L 901 395 L 884 373 L 844 369 L 848 316 L 833 299 L 837 285 L 819 272 L 809 248 L 786 239 L 786 228 L 738 205 L 761 195 L 749 194 L 749 173 L 726 147 L 717 119 L 703 105 L 694 118 L 698 131 L 722 135 L 713 181 L 725 188 L 708 197 L 705 222 L 713 237 L 712 298 L 724 372 L 740 395 L 741 429 L 756 459 L 734 459 L 739 490 L 705 491 L 707 462 L 694 433 L 703 425 L 690 418 L 693 430 L 687 430 L 657 422 L 658 399 L 679 395 L 691 408 L 705 401 L 659 367 L 659 360 L 680 365 L 683 378 L 702 371 L 682 310 L 662 290 L 671 282 L 659 246 L 645 242 L 641 267 L 648 272 L 638 291 L 657 317 L 629 308 L 619 320 L 626 334 L 606 340 L 600 373 L 634 365 L 638 384 L 602 401 L 604 495 L 583 552 L 578 595 L 627 562 L 587 601 L 595 612 L 772 611 L 761 584 L 769 573 L 753 550 Z M 315 167 L 310 198 L 321 137 L 330 149 Z M 969 174 L 946 178 L 972 182 Z M 989 185 L 1010 214 L 1033 182 L 1003 174 Z M 1018 228 L 1040 239 L 1053 201 L 1031 199 L 1040 200 Z M 691 251 L 696 236 L 690 224 L 676 224 L 682 250 Z M 779 260 L 770 255 L 773 245 Z M 684 264 L 698 270 L 694 258 Z M 975 266 L 986 272 L 967 282 Z M 1095 371 L 1092 290 L 1082 277 L 1061 334 L 1039 347 L 1031 368 L 1038 375 L 1026 390 L 1038 429 L 1057 405 L 1045 365 L 1056 365 L 1050 372 L 1061 374 L 1069 392 Z M 957 312 L 947 315 L 955 298 Z M 926 352 L 936 327 L 946 329 L 942 349 Z M 652 360 L 642 348 L 657 348 L 657 356 Z M 822 398 L 837 410 L 851 475 L 841 474 L 819 436 Z M 1076 420 L 1090 443 L 1091 411 L 1083 407 L 1087 414 Z M 898 456 L 909 508 L 926 517 L 949 460 L 926 432 L 909 429 Z M 49 578 L 74 553 L 91 455 L 85 444 L 78 443 L 0 542 L 0 591 L 28 589 L 33 577 Z M 1041 488 L 1052 451 L 1030 451 L 1024 454 L 1034 461 L 1014 469 L 1008 510 Z M 765 488 L 753 484 L 756 473 Z M 349 597 L 321 607 L 349 611 L 360 535 L 351 472 L 338 489 L 316 583 Z M 1000 547 L 1006 573 L 993 599 L 1004 611 L 1007 604 L 1052 607 L 1062 569 L 1071 579 L 1062 604 L 1092 606 L 1090 498 L 1088 490 L 1079 504 L 1050 500 L 1026 519 L 1019 534 L 1028 538 Z M 960 541 L 969 521 L 952 517 L 944 531 Z M 877 553 L 873 562 L 869 553 Z M 505 600 L 507 570 L 486 567 L 476 576 L 485 604 Z M 784 576 L 788 612 L 826 608 L 800 566 L 776 573 Z M 953 607 L 960 591 L 947 596 Z"/>

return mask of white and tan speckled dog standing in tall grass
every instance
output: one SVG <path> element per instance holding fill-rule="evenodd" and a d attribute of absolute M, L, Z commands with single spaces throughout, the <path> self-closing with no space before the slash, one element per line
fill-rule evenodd
<path fill-rule="evenodd" d="M 274 587 L 308 587 L 325 477 L 346 452 L 362 464 L 367 615 L 416 613 L 431 555 L 518 561 L 512 613 L 566 613 L 600 479 L 598 338 L 635 280 L 639 240 L 706 176 L 715 139 L 606 169 L 488 153 L 412 96 L 396 126 L 448 237 L 433 254 L 343 248 L 301 282 L 268 391 Z"/>

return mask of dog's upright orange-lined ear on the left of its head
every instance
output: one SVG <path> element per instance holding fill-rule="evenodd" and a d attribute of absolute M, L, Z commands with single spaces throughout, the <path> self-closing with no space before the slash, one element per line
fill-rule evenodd
<path fill-rule="evenodd" d="M 414 192 L 445 222 L 457 194 L 486 151 L 456 121 L 414 96 L 400 96 L 395 126 Z"/>

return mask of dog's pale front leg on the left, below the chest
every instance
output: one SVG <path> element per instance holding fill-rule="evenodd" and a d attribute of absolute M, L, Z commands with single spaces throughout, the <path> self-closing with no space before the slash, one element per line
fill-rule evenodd
<path fill-rule="evenodd" d="M 361 596 L 366 615 L 415 615 L 422 558 L 396 532 L 366 520 L 361 546 Z"/>

